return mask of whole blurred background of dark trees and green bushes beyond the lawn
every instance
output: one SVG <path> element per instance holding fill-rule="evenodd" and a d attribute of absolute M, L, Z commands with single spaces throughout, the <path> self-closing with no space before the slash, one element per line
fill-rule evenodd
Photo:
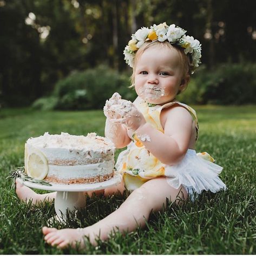
<path fill-rule="evenodd" d="M 179 100 L 256 103 L 255 0 L 0 0 L 1 108 L 101 109 L 129 89 L 123 49 L 166 22 L 202 44 L 202 64 Z"/>

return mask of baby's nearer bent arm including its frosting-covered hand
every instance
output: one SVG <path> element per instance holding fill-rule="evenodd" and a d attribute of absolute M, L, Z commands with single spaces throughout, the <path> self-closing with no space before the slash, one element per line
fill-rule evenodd
<path fill-rule="evenodd" d="M 165 130 L 162 133 L 146 122 L 132 102 L 120 99 L 117 106 L 121 117 L 114 122 L 134 130 L 143 145 L 162 163 L 174 165 L 186 154 L 192 137 L 193 120 L 185 108 L 171 107 L 162 111 Z M 122 106 L 126 106 L 126 109 Z"/>

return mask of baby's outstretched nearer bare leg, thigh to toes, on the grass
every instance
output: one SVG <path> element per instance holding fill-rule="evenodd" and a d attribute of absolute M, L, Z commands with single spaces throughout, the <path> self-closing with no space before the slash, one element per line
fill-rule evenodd
<path fill-rule="evenodd" d="M 100 237 L 101 240 L 106 240 L 113 229 L 124 233 L 134 231 L 137 226 L 144 227 L 150 212 L 152 210 L 161 211 L 162 207 L 166 205 L 166 198 L 170 201 L 175 201 L 177 198 L 186 200 L 187 196 L 186 189 L 170 187 L 166 178 L 153 179 L 137 188 L 119 209 L 96 224 L 83 229 L 57 230 L 44 227 L 44 240 L 48 244 L 57 245 L 60 248 L 68 244 L 74 246 L 76 242 L 81 242 L 81 246 L 83 246 L 83 237 L 87 235 L 91 244 L 96 245 L 95 238 Z"/>

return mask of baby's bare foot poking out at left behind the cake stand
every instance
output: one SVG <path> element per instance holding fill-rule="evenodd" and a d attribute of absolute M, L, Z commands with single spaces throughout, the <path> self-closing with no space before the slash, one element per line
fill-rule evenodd
<path fill-rule="evenodd" d="M 41 195 L 32 191 L 31 188 L 24 186 L 19 180 L 16 180 L 16 194 L 21 201 L 28 202 L 32 200 L 32 204 L 36 205 L 42 201 Z"/>

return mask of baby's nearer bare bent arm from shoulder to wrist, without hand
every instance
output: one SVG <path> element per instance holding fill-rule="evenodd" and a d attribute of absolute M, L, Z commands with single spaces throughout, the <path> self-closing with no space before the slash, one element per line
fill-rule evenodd
<path fill-rule="evenodd" d="M 187 152 L 193 133 L 193 120 L 183 107 L 167 109 L 165 119 L 165 133 L 156 130 L 149 123 L 139 126 L 135 133 L 139 138 L 147 138 L 142 143 L 157 159 L 173 165 Z"/>

